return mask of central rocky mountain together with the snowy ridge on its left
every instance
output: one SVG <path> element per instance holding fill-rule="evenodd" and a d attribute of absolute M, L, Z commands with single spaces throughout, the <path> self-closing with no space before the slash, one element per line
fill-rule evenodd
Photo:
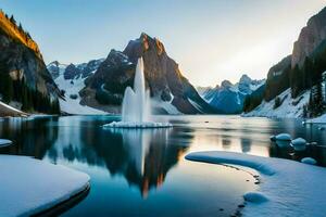
<path fill-rule="evenodd" d="M 65 92 L 65 101 L 61 100 L 64 112 L 87 113 L 89 107 L 92 112 L 120 112 L 124 90 L 127 86 L 133 86 L 138 58 L 143 59 L 145 77 L 155 113 L 217 112 L 183 76 L 177 63 L 167 55 L 163 43 L 147 34 L 130 40 L 123 52 L 111 50 L 106 59 L 78 65 L 50 63 L 48 69 L 59 88 Z M 73 104 L 78 110 L 73 108 Z"/>

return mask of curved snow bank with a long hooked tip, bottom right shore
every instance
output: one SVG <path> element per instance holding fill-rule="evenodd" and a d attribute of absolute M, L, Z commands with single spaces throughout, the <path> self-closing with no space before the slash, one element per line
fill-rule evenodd
<path fill-rule="evenodd" d="M 326 169 L 294 161 L 233 152 L 197 152 L 187 159 L 247 166 L 261 173 L 260 193 L 267 201 L 248 202 L 244 216 L 322 217 L 326 210 Z"/>

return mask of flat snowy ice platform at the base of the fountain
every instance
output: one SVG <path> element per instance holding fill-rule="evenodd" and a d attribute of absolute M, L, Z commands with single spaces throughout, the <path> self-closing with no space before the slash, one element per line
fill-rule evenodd
<path fill-rule="evenodd" d="M 112 122 L 110 124 L 103 125 L 103 128 L 167 128 L 172 127 L 170 123 L 154 123 L 154 122 Z"/>

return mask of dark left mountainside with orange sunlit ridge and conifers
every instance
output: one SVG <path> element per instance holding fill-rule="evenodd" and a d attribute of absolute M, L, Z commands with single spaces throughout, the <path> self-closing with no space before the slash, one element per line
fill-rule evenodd
<path fill-rule="evenodd" d="M 0 11 L 0 97 L 25 112 L 59 113 L 59 89 L 37 43 Z"/>

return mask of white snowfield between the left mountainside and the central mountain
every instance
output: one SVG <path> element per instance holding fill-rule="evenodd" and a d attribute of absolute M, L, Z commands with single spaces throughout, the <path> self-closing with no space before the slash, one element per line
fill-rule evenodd
<path fill-rule="evenodd" d="M 71 84 L 72 80 L 64 79 L 63 75 L 59 76 L 55 79 L 55 84 L 59 89 L 65 90 L 65 100 L 60 99 L 60 108 L 62 112 L 67 114 L 77 114 L 77 115 L 103 115 L 106 114 L 103 111 L 99 111 L 89 106 L 82 105 L 79 91 L 85 87 L 86 78 L 73 79 L 74 84 Z M 77 99 L 71 99 L 71 94 L 76 94 Z"/>

